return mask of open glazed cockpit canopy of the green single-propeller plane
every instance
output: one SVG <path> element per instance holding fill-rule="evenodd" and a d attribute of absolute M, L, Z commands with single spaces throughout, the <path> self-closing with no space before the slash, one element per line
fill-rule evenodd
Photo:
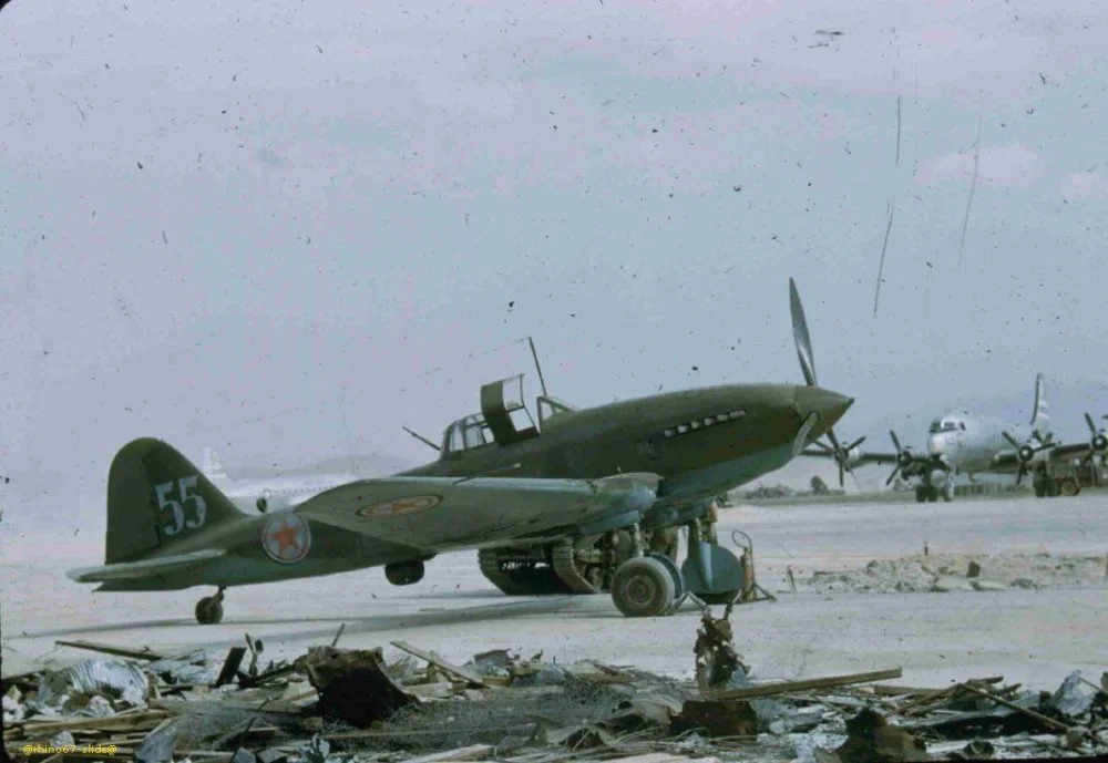
<path fill-rule="evenodd" d="M 509 396 L 512 392 L 515 394 Z M 540 425 L 577 410 L 547 395 L 540 395 L 536 402 Z M 445 429 L 442 433 L 442 455 L 450 456 L 488 445 L 511 445 L 537 437 L 538 433 L 538 426 L 523 402 L 521 373 L 481 388 L 481 413 L 463 416 Z"/>

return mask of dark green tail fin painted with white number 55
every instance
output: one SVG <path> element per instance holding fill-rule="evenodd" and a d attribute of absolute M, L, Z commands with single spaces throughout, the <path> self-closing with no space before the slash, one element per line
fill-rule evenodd
<path fill-rule="evenodd" d="M 173 446 L 143 437 L 115 454 L 107 473 L 105 564 L 133 561 L 244 516 Z"/>

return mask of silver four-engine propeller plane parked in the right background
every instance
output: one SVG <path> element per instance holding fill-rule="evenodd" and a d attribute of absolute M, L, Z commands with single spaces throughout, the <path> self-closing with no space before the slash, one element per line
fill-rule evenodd
<path fill-rule="evenodd" d="M 1097 430 L 1089 414 L 1085 414 L 1089 440 L 1084 443 L 1058 443 L 1050 433 L 1050 421 L 1043 374 L 1035 379 L 1035 408 L 1029 424 L 1014 424 L 987 416 L 962 412 L 947 412 L 931 423 L 927 433 L 927 452 L 920 453 L 911 446 L 902 447 L 895 432 L 890 432 L 895 453 L 864 453 L 859 448 L 865 437 L 845 448 L 814 443 L 814 450 L 804 455 L 832 457 L 839 462 L 839 478 L 843 471 L 852 471 L 866 463 L 895 464 L 885 485 L 892 484 L 897 474 L 919 478 L 915 499 L 944 501 L 954 498 L 954 477 L 965 474 L 971 481 L 977 474 L 1015 474 L 1020 484 L 1032 474 L 1035 495 L 1038 497 L 1077 495 L 1081 481 L 1078 470 L 1089 470 L 1095 482 L 1095 458 L 1108 454 L 1108 435 Z"/>

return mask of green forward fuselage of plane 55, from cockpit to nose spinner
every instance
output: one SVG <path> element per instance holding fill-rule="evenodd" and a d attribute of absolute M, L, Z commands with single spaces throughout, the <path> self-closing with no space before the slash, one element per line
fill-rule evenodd
<path fill-rule="evenodd" d="M 541 434 L 506 445 L 479 433 L 455 448 L 448 427 L 440 457 L 402 475 L 469 476 L 515 464 L 511 474 L 529 477 L 649 472 L 663 477 L 660 505 L 689 504 L 780 468 L 794 457 L 807 416 L 819 414 L 811 441 L 851 403 L 820 388 L 731 384 L 565 410 L 543 420 Z"/>

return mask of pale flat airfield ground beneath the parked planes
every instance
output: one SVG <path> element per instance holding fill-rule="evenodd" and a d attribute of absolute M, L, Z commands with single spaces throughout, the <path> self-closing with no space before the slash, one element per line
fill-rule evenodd
<path fill-rule="evenodd" d="M 788 590 L 787 566 L 798 581 L 799 592 L 780 592 L 777 602 L 738 607 L 732 615 L 736 643 L 758 678 L 900 666 L 909 685 L 1004 676 L 1009 682 L 1054 689 L 1071 670 L 1095 677 L 1108 670 L 1104 493 L 922 505 L 739 506 L 722 513 L 720 539 L 729 543 L 732 529 L 753 538 L 758 581 L 765 588 Z M 58 537 L 44 527 L 38 536 L 3 539 L 6 676 L 43 659 L 64 664 L 92 656 L 58 649 L 55 639 L 148 646 L 160 652 L 194 646 L 223 652 L 242 645 L 248 631 L 264 640 L 265 662 L 330 642 L 341 623 L 342 647 L 383 646 L 387 656 L 394 653 L 389 641 L 403 639 L 456 662 L 505 647 L 524 656 L 543 650 L 544 659 L 558 662 L 591 658 L 681 677 L 694 669 L 694 607 L 687 605 L 674 617 L 634 620 L 620 617 L 606 596 L 510 598 L 484 580 L 473 553 L 431 561 L 424 580 L 408 588 L 392 587 L 380 569 L 370 569 L 232 589 L 224 621 L 197 626 L 193 606 L 208 589 L 94 595 L 91 587 L 69 580 L 66 569 L 102 561 L 103 538 L 88 535 Z M 993 577 L 1005 579 L 1038 576 L 1036 585 L 1048 587 L 875 592 L 856 585 L 871 560 L 921 555 L 925 543 L 932 557 L 938 555 L 936 564 L 954 559 L 962 565 L 973 558 L 984 578 L 994 570 Z M 896 568 L 882 569 L 878 571 L 889 575 Z M 821 570 L 855 574 L 834 590 L 823 585 L 828 576 L 813 585 Z"/>

